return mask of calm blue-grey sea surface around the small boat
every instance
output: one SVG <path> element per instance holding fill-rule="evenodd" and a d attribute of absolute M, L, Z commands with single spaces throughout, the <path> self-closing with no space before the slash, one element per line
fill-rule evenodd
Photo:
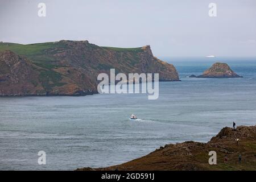
<path fill-rule="evenodd" d="M 159 99 L 144 94 L 0 97 L 0 169 L 105 167 L 167 143 L 207 142 L 222 127 L 256 124 L 256 59 L 161 57 L 181 82 L 160 82 Z M 188 78 L 214 62 L 244 78 Z M 140 121 L 128 118 L 137 114 Z M 47 164 L 38 164 L 38 151 Z"/>

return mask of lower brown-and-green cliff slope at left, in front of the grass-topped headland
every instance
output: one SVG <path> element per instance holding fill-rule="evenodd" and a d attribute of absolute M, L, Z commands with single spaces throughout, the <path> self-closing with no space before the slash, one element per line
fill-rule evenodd
<path fill-rule="evenodd" d="M 71 76 L 67 77 L 51 69 L 39 67 L 14 52 L 0 52 L 0 96 L 90 94 L 92 83 L 86 78 L 79 79 L 79 74 L 76 69 L 71 68 Z M 76 80 L 72 80 L 72 77 Z"/>

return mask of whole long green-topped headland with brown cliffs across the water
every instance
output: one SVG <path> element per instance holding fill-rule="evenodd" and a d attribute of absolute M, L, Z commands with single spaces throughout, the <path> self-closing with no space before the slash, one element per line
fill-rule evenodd
<path fill-rule="evenodd" d="M 88 41 L 0 43 L 0 96 L 81 96 L 97 93 L 97 76 L 159 73 L 160 81 L 179 81 L 172 64 L 153 56 L 150 46 L 99 47 Z"/>

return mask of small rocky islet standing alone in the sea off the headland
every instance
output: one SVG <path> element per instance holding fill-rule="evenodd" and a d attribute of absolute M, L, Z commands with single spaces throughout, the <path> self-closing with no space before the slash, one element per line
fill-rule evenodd
<path fill-rule="evenodd" d="M 191 75 L 191 78 L 240 78 L 242 76 L 237 75 L 228 64 L 226 63 L 214 63 L 212 67 L 205 70 L 203 75 L 196 76 Z"/>

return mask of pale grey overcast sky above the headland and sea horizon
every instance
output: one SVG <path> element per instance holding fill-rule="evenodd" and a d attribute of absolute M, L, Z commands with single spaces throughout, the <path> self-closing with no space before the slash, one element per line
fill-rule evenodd
<path fill-rule="evenodd" d="M 38 3 L 46 3 L 46 17 Z M 209 17 L 208 5 L 217 5 Z M 155 56 L 256 56 L 255 0 L 0 0 L 0 41 L 150 45 Z"/>

